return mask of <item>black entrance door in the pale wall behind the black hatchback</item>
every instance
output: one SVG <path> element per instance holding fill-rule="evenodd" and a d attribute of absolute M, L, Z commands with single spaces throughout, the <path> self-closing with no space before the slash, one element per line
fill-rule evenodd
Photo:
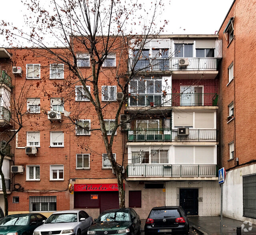
<path fill-rule="evenodd" d="M 180 206 L 186 215 L 198 215 L 198 189 L 180 189 Z"/>

